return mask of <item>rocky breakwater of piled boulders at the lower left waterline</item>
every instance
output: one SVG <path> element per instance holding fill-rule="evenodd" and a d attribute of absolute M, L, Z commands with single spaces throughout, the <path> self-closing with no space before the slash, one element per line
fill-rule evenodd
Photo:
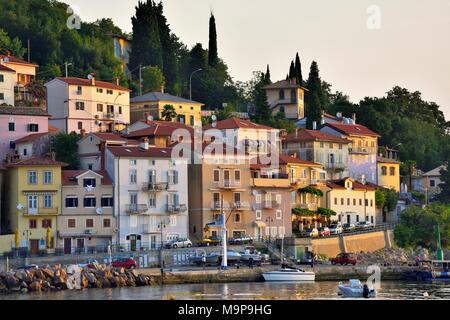
<path fill-rule="evenodd" d="M 140 275 L 136 270 L 95 265 L 77 265 L 19 270 L 0 273 L 0 294 L 82 290 L 87 288 L 136 287 L 155 284 L 152 276 Z"/>

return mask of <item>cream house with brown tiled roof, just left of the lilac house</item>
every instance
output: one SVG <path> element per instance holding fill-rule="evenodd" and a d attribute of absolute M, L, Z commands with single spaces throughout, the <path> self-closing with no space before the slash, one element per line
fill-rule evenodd
<path fill-rule="evenodd" d="M 335 135 L 306 129 L 296 129 L 282 138 L 283 154 L 322 164 L 327 179 L 342 179 L 349 175 L 350 143 L 350 140 Z"/>

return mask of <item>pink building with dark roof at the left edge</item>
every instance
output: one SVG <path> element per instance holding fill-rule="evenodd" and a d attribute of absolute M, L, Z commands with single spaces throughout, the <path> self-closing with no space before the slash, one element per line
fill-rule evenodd
<path fill-rule="evenodd" d="M 49 117 L 39 108 L 0 106 L 0 161 L 14 153 L 16 140 L 48 132 Z"/>

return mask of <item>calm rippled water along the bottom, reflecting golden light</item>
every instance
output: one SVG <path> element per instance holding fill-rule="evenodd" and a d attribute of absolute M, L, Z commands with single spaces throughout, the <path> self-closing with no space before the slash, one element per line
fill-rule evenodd
<path fill-rule="evenodd" d="M 337 295 L 338 282 L 183 284 L 157 287 L 88 289 L 0 296 L 0 300 L 314 300 L 346 299 Z M 424 292 L 429 297 L 424 298 Z M 450 285 L 382 282 L 377 299 L 450 299 Z"/>

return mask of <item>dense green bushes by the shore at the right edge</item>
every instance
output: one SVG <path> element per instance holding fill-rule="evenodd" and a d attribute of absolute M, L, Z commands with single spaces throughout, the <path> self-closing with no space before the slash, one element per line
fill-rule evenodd
<path fill-rule="evenodd" d="M 394 232 L 395 242 L 405 248 L 437 249 L 439 224 L 442 248 L 450 245 L 450 207 L 433 204 L 425 209 L 411 206 L 402 212 Z"/>

